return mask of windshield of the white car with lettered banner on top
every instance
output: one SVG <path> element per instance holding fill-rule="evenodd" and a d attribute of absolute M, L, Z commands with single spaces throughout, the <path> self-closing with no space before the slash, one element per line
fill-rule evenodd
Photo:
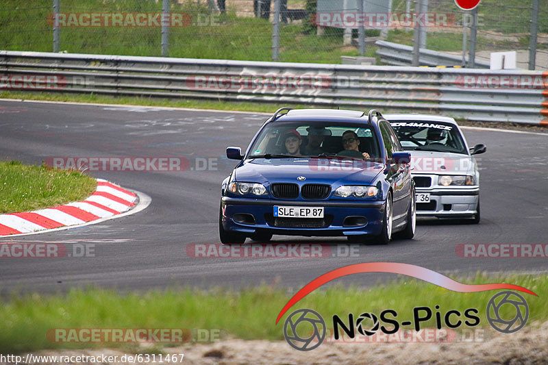
<path fill-rule="evenodd" d="M 406 151 L 437 151 L 468 154 L 455 125 L 432 121 L 391 121 Z"/>

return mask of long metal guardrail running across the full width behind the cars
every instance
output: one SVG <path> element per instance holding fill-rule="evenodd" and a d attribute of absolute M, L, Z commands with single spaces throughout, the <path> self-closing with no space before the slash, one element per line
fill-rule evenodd
<path fill-rule="evenodd" d="M 0 73 L 0 90 L 375 108 L 548 125 L 548 73 L 540 71 L 0 51 Z"/>

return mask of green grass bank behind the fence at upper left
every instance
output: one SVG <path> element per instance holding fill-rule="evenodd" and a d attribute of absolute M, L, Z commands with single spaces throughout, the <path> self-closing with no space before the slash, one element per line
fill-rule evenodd
<path fill-rule="evenodd" d="M 62 13 L 161 12 L 155 1 L 61 1 Z M 35 0 L 24 6 L 5 0 L 0 10 L 0 49 L 52 51 L 53 31 L 47 23 L 50 0 Z M 206 1 L 171 2 L 171 12 L 185 12 L 197 20 L 210 14 Z M 182 58 L 227 60 L 272 60 L 272 23 L 261 18 L 237 16 L 236 8 L 214 14 L 214 25 L 171 27 L 169 55 Z M 201 21 L 205 18 L 200 18 Z M 204 21 L 205 22 L 205 21 Z M 308 35 L 303 23 L 280 25 L 280 61 L 340 63 L 340 55 L 358 55 L 355 47 L 343 47 L 342 32 Z M 69 53 L 159 56 L 160 27 L 61 27 L 60 50 Z M 371 53 L 371 51 L 369 52 Z"/>

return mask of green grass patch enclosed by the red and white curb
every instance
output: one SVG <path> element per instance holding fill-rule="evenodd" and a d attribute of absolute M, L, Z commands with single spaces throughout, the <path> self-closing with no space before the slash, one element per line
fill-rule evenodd
<path fill-rule="evenodd" d="M 0 162 L 0 213 L 26 212 L 88 197 L 97 181 L 79 171 Z"/>

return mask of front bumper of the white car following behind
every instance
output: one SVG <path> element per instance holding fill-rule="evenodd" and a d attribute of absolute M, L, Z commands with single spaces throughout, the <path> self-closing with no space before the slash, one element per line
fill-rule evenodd
<path fill-rule="evenodd" d="M 464 218 L 477 213 L 479 187 L 454 188 L 416 188 L 416 193 L 430 194 L 429 203 L 416 203 L 417 216 L 435 216 L 438 218 Z"/>

